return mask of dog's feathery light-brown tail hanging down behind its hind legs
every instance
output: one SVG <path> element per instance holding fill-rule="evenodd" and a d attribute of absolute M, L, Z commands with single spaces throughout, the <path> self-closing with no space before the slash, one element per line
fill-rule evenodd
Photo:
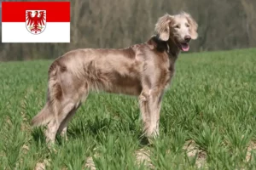
<path fill-rule="evenodd" d="M 47 103 L 44 105 L 42 111 L 32 118 L 31 124 L 33 127 L 45 125 L 57 116 L 57 108 L 59 105 L 58 99 L 62 96 L 61 83 L 58 79 L 58 71 L 59 65 L 57 62 L 50 65 Z"/>

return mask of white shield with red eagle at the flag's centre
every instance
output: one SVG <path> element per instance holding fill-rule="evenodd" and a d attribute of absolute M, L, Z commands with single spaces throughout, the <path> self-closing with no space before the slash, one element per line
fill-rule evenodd
<path fill-rule="evenodd" d="M 42 33 L 46 26 L 45 10 L 26 10 L 26 28 L 32 34 Z"/>

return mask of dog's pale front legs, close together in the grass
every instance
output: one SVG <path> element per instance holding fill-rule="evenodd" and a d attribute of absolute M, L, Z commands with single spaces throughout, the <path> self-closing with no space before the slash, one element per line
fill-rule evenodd
<path fill-rule="evenodd" d="M 139 96 L 143 117 L 143 132 L 148 137 L 159 135 L 160 106 L 163 91 L 160 88 L 143 90 Z"/>

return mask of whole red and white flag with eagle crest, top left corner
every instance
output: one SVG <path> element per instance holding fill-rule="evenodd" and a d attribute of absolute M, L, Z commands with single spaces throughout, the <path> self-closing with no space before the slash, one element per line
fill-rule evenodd
<path fill-rule="evenodd" d="M 70 3 L 2 2 L 2 42 L 70 42 Z"/>

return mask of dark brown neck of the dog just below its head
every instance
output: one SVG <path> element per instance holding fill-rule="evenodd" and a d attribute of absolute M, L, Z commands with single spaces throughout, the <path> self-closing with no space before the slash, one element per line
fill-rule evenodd
<path fill-rule="evenodd" d="M 170 58 L 177 58 L 178 54 L 180 53 L 180 49 L 177 48 L 177 45 L 171 38 L 165 42 L 160 40 L 158 36 L 153 36 L 148 40 L 147 43 L 150 48 L 155 48 L 160 52 L 166 51 Z"/>

